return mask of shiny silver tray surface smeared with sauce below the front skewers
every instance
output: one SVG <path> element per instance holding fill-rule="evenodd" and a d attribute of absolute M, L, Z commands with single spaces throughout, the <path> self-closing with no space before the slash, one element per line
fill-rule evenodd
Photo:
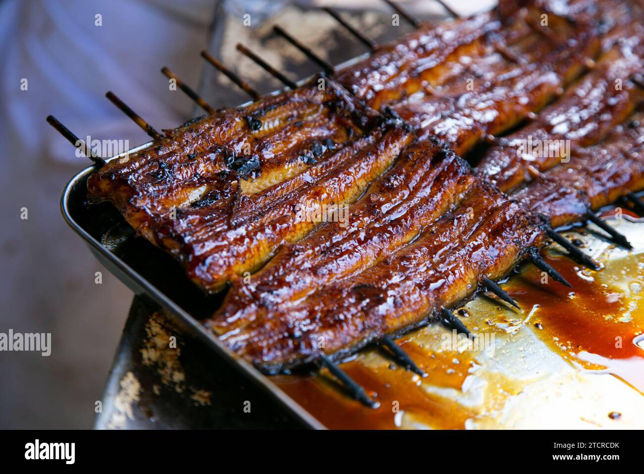
<path fill-rule="evenodd" d="M 487 295 L 457 311 L 479 346 L 437 324 L 399 339 L 427 377 L 378 348 L 341 364 L 379 408 L 348 399 L 325 370 L 272 380 L 332 429 L 641 429 L 644 222 L 609 222 L 634 252 L 594 232 L 567 233 L 601 262 L 599 272 L 579 268 L 556 248 L 547 252 L 572 289 L 544 283 L 525 266 L 503 284 L 522 311 Z"/>

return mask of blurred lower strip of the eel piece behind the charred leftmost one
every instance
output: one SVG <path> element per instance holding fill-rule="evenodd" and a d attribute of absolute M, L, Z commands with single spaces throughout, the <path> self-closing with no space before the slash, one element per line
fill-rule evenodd
<path fill-rule="evenodd" d="M 532 39 L 533 41 L 529 41 Z M 527 51 L 535 52 L 525 64 L 479 64 L 477 82 L 460 77 L 453 95 L 416 95 L 394 106 L 396 112 L 417 128 L 419 136 L 437 135 L 462 155 L 489 135 L 499 135 L 520 124 L 554 99 L 585 68 L 585 59 L 596 54 L 600 41 L 595 30 L 581 28 L 564 44 L 526 40 Z M 516 54 L 529 58 L 529 53 Z M 497 54 L 498 56 L 498 54 Z"/>

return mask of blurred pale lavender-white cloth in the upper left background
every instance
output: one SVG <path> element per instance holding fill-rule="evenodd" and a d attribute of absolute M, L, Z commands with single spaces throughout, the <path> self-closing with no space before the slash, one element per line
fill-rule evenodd
<path fill-rule="evenodd" d="M 159 70 L 169 66 L 198 84 L 213 0 L 5 0 L 0 2 L 3 146 L 39 158 L 79 161 L 44 118 L 55 115 L 79 137 L 146 135 L 104 97 L 112 90 L 155 128 L 176 126 L 192 103 L 170 91 Z M 95 25 L 101 15 L 102 26 Z M 21 90 L 21 79 L 28 90 Z M 50 153 L 48 153 L 48 151 Z"/>

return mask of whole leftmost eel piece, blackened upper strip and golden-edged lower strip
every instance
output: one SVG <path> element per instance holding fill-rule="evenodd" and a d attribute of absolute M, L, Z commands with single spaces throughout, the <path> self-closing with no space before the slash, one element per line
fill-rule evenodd
<path fill-rule="evenodd" d="M 354 201 L 411 140 L 401 121 L 325 82 L 187 124 L 92 175 L 90 196 L 112 201 L 202 288 L 220 290 L 312 230 L 292 216 L 298 200 Z M 253 160 L 259 169 L 245 175 Z"/>

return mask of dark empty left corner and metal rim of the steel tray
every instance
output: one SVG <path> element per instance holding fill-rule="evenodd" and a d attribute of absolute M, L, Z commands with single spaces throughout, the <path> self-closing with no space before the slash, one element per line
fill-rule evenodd
<path fill-rule="evenodd" d="M 151 144 L 142 144 L 126 153 L 144 150 Z M 111 159 L 118 159 L 126 153 Z M 185 276 L 178 262 L 146 239 L 136 237 L 111 203 L 87 204 L 87 179 L 93 171 L 94 167 L 88 166 L 70 179 L 62 192 L 61 212 L 97 260 L 135 294 L 145 294 L 166 308 L 173 322 L 182 330 L 201 339 L 240 375 L 257 384 L 305 426 L 323 429 L 320 422 L 279 389 L 270 377 L 260 373 L 205 330 L 200 319 L 213 313 L 221 296 L 205 295 Z"/>

